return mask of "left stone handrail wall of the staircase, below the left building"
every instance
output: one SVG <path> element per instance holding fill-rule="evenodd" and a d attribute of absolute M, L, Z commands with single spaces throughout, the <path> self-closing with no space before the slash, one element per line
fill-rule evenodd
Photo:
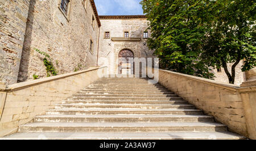
<path fill-rule="evenodd" d="M 98 71 L 103 68 L 106 67 L 93 67 L 8 87 L 0 85 L 0 137 L 16 132 L 18 126 L 53 109 L 57 103 L 99 79 Z"/>

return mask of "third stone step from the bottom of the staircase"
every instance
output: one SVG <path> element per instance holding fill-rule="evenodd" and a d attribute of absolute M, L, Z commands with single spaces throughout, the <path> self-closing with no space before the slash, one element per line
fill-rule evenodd
<path fill-rule="evenodd" d="M 214 122 L 206 115 L 42 115 L 34 122 Z"/>

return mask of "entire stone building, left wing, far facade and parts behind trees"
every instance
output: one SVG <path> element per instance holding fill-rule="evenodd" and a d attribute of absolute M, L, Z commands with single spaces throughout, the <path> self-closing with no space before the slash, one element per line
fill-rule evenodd
<path fill-rule="evenodd" d="M 147 28 L 144 15 L 99 16 L 93 0 L 0 0 L 0 81 L 46 77 L 44 55 L 36 49 L 49 55 L 58 74 L 94 66 L 133 74 L 131 64 L 119 58 L 154 58 Z M 245 80 L 241 66 L 236 84 Z M 213 72 L 217 81 L 228 83 L 223 69 Z"/>

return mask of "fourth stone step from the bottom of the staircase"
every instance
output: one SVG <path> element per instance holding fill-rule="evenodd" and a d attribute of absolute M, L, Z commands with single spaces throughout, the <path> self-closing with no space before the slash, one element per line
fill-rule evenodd
<path fill-rule="evenodd" d="M 196 109 L 51 109 L 47 115 L 116 115 L 116 114 L 169 114 L 169 115 L 203 115 L 201 110 Z"/>

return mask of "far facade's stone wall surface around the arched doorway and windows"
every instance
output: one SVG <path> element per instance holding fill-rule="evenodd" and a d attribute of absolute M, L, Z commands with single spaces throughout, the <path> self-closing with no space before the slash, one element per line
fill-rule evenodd
<path fill-rule="evenodd" d="M 100 46 L 98 65 L 109 66 L 109 73 L 116 74 L 118 68 L 118 54 L 123 49 L 133 51 L 134 57 L 151 58 L 154 51 L 147 48 L 143 32 L 147 30 L 147 19 L 101 19 Z M 105 38 L 105 32 L 110 32 L 110 38 Z M 131 38 L 141 38 L 140 41 L 113 41 L 113 37 L 124 37 L 129 32 Z M 148 31 L 150 36 L 150 31 Z"/>

